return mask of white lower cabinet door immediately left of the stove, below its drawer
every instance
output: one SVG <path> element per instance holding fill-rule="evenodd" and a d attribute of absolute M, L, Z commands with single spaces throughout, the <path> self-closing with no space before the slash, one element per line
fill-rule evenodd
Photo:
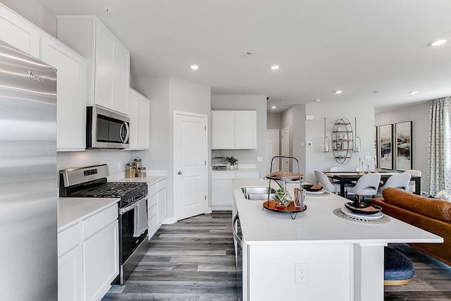
<path fill-rule="evenodd" d="M 100 300 L 119 274 L 118 221 L 82 242 L 85 300 Z"/>

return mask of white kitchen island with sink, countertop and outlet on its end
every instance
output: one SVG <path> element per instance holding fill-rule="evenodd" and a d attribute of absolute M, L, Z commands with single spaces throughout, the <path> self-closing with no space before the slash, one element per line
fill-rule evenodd
<path fill-rule="evenodd" d="M 291 195 L 298 185 L 287 185 Z M 233 180 L 242 232 L 243 300 L 381 301 L 388 243 L 443 242 L 391 217 L 386 223 L 362 223 L 336 216 L 333 211 L 349 200 L 334 194 L 308 195 L 307 210 L 291 219 L 263 209 L 262 201 L 245 199 L 241 188 L 249 186 L 268 187 L 268 180 Z"/>

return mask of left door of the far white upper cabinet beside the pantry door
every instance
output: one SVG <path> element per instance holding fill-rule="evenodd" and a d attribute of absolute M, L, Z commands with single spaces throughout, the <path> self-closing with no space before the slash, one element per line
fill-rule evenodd
<path fill-rule="evenodd" d="M 211 149 L 235 147 L 235 121 L 233 111 L 211 111 Z"/>

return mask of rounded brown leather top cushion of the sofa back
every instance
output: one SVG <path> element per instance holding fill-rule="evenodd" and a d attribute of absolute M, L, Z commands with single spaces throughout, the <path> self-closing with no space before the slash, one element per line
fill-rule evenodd
<path fill-rule="evenodd" d="M 384 202 L 394 206 L 414 211 L 417 214 L 451 223 L 451 202 L 441 199 L 421 197 L 410 192 L 404 192 L 395 188 L 385 188 L 382 191 Z"/>

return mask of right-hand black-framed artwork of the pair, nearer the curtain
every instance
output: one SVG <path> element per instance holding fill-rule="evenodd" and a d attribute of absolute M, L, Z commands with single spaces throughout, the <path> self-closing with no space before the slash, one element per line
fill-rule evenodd
<path fill-rule="evenodd" d="M 395 124 L 395 162 L 398 171 L 412 169 L 412 121 Z"/>

